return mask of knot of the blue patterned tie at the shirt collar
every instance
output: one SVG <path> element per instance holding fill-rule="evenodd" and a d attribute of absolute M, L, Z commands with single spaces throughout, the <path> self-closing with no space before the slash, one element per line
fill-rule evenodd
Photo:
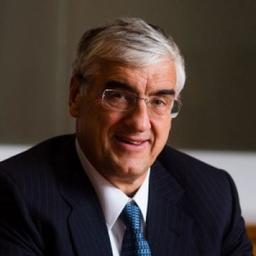
<path fill-rule="evenodd" d="M 140 208 L 138 205 L 130 203 L 126 204 L 119 217 L 126 228 L 141 230 Z"/>

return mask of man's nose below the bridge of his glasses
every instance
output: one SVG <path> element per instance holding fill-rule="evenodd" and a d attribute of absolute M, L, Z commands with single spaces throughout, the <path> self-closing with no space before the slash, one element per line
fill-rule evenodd
<path fill-rule="evenodd" d="M 145 99 L 138 99 L 134 108 L 125 116 L 124 123 L 135 132 L 145 132 L 151 128 Z"/>

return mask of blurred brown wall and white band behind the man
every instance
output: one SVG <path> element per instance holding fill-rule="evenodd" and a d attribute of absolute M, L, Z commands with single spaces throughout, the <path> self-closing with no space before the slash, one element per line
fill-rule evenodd
<path fill-rule="evenodd" d="M 172 35 L 186 61 L 183 106 L 168 143 L 230 172 L 246 221 L 256 222 L 255 13 L 255 0 L 1 0 L 2 158 L 74 132 L 67 97 L 79 38 L 136 15 Z"/>

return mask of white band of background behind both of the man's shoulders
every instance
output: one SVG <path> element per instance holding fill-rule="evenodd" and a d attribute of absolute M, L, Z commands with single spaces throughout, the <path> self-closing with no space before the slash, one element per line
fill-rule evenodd
<path fill-rule="evenodd" d="M 0 161 L 28 148 L 29 145 L 0 145 Z M 246 223 L 256 223 L 256 152 L 182 151 L 230 173 Z"/>

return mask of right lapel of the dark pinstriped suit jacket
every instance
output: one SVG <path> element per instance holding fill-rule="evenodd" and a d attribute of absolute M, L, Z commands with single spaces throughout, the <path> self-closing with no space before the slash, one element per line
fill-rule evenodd
<path fill-rule="evenodd" d="M 152 255 L 187 255 L 192 220 L 179 207 L 184 189 L 156 161 L 150 173 L 147 240 Z"/>

